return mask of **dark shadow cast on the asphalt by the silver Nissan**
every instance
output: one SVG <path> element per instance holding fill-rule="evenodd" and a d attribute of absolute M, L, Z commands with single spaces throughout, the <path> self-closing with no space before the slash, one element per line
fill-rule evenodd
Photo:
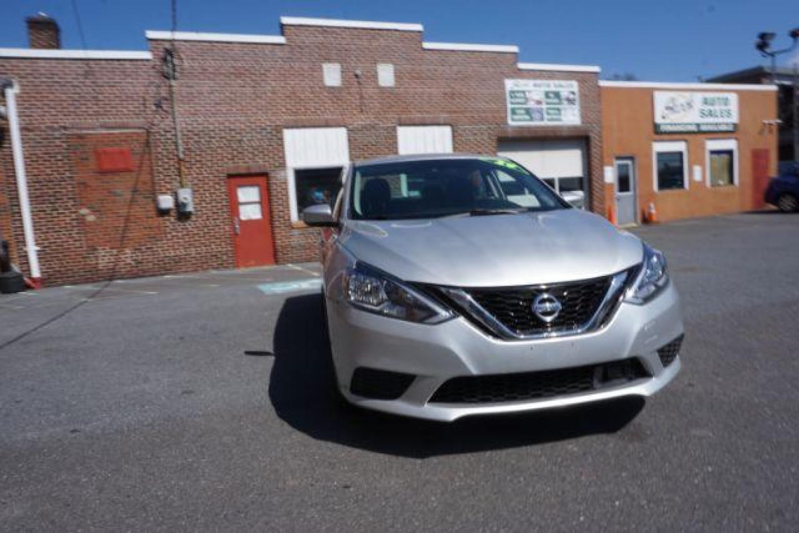
<path fill-rule="evenodd" d="M 274 333 L 269 398 L 280 419 L 318 440 L 422 459 L 614 433 L 641 412 L 634 397 L 549 412 L 428 422 L 354 408 L 333 379 L 318 294 L 285 300 Z"/>

